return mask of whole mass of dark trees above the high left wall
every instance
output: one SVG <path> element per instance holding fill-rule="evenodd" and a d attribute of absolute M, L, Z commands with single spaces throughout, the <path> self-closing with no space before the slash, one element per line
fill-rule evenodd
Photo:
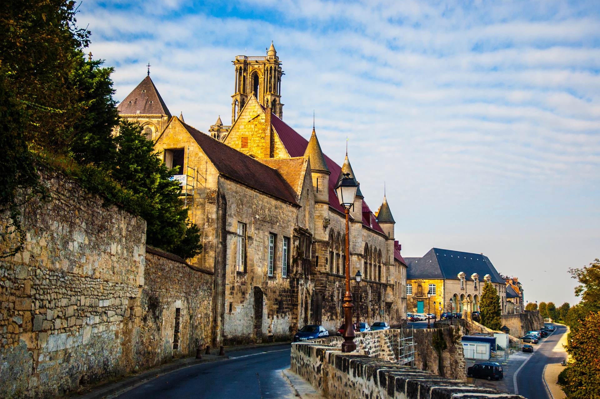
<path fill-rule="evenodd" d="M 23 248 L 22 209 L 48 200 L 43 169 L 146 220 L 146 242 L 190 259 L 200 232 L 181 187 L 137 123 L 119 121 L 114 69 L 85 55 L 76 3 L 6 0 L 0 10 L 0 257 Z"/>

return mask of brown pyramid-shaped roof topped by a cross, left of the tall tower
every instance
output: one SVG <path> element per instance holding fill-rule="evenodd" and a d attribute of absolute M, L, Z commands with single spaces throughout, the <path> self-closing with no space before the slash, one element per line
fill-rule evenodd
<path fill-rule="evenodd" d="M 171 117 L 167 105 L 160 97 L 158 89 L 149 75 L 125 97 L 125 100 L 121 101 L 117 108 L 119 113 L 126 115 L 167 115 L 169 118 Z"/>

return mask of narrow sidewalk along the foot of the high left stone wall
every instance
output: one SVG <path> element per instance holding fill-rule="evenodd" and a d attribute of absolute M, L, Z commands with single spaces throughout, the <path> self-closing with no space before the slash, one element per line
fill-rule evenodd
<path fill-rule="evenodd" d="M 106 397 L 112 397 L 111 395 L 123 391 L 124 389 L 134 388 L 135 386 L 142 385 L 143 383 L 146 383 L 155 377 L 161 376 L 166 373 L 170 373 L 171 371 L 179 370 L 180 368 L 190 367 L 197 364 L 227 360 L 229 359 L 229 353 L 235 353 L 245 349 L 254 349 L 262 347 L 266 349 L 271 346 L 284 344 L 289 344 L 289 342 L 226 346 L 224 348 L 225 356 L 218 356 L 218 347 L 211 348 L 210 355 L 205 355 L 205 352 L 202 351 L 202 359 L 196 359 L 194 357 L 173 359 L 173 361 L 167 362 L 149 370 L 142 371 L 141 373 L 127 374 L 126 376 L 117 377 L 116 379 L 99 383 L 95 386 L 82 386 L 80 387 L 78 392 L 70 394 L 69 397 L 80 399 L 101 399 Z"/>

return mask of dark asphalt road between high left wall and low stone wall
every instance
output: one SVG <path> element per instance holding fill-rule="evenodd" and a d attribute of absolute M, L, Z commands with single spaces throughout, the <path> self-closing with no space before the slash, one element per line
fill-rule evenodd
<path fill-rule="evenodd" d="M 290 367 L 290 344 L 233 352 L 230 359 L 182 368 L 119 395 L 143 398 L 295 398 L 281 370 Z"/>

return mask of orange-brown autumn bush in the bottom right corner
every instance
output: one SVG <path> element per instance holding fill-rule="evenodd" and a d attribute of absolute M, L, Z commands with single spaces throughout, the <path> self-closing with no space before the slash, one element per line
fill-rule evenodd
<path fill-rule="evenodd" d="M 600 312 L 589 313 L 571 332 L 566 347 L 572 363 L 566 371 L 566 391 L 572 399 L 600 397 Z"/>

